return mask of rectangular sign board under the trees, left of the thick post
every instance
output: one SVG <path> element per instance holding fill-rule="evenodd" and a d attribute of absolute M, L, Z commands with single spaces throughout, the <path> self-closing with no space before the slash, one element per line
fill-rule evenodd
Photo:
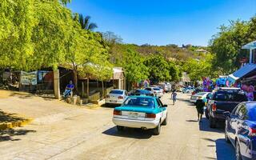
<path fill-rule="evenodd" d="M 38 72 L 21 72 L 22 85 L 37 85 L 38 84 Z"/>

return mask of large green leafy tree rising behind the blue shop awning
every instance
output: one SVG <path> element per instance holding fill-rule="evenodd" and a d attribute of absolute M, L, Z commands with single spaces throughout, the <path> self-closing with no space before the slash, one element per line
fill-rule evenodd
<path fill-rule="evenodd" d="M 221 26 L 210 42 L 215 54 L 214 66 L 222 74 L 230 74 L 240 66 L 239 58 L 248 57 L 242 46 L 256 38 L 254 18 L 250 22 L 230 21 L 230 26 Z"/>

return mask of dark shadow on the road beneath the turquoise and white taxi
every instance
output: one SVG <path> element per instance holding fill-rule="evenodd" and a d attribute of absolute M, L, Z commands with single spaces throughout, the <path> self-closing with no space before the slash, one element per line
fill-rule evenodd
<path fill-rule="evenodd" d="M 123 138 L 134 138 L 134 139 L 148 139 L 152 137 L 150 130 L 141 130 L 134 128 L 125 128 L 122 131 L 118 131 L 116 126 L 105 130 L 102 134 L 117 136 Z"/>

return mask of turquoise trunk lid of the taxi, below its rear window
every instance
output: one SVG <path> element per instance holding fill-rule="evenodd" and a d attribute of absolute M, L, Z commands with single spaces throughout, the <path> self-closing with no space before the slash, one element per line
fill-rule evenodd
<path fill-rule="evenodd" d="M 118 106 L 114 108 L 114 110 L 120 111 L 134 111 L 134 112 L 142 112 L 148 114 L 158 114 L 160 112 L 159 108 L 146 108 L 139 106 Z"/>

